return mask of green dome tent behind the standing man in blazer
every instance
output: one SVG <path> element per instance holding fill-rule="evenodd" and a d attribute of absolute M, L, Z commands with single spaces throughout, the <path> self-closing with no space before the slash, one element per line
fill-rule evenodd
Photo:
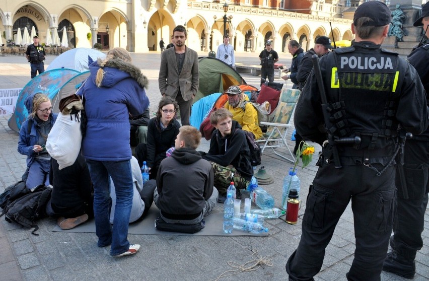
<path fill-rule="evenodd" d="M 233 85 L 246 84 L 230 65 L 214 57 L 198 58 L 199 88 L 193 102 L 213 93 L 223 93 Z"/>

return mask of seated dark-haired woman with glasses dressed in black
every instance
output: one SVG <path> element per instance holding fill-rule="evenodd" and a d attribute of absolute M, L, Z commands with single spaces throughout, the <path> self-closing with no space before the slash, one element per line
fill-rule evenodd
<path fill-rule="evenodd" d="M 135 148 L 135 155 L 140 167 L 146 161 L 151 173 L 150 179 L 156 179 L 161 161 L 166 158 L 166 151 L 175 146 L 175 139 L 179 133 L 180 123 L 176 120 L 179 105 L 177 101 L 164 97 L 158 104 L 156 117 L 148 124 L 146 144 L 139 144 Z"/>

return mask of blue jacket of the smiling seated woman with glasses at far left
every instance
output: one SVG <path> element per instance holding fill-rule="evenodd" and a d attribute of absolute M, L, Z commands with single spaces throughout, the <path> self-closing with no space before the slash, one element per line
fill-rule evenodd
<path fill-rule="evenodd" d="M 33 111 L 33 98 L 37 93 L 29 95 L 25 101 L 25 107 L 27 108 L 28 113 L 30 114 Z M 51 112 L 49 117 L 49 122 L 51 125 L 55 123 L 56 117 L 58 114 Z M 31 121 L 30 121 L 31 120 Z M 31 129 L 29 132 L 29 125 L 31 124 Z M 32 117 L 28 117 L 22 125 L 19 131 L 19 141 L 18 141 L 18 152 L 22 155 L 27 155 L 27 167 L 33 163 L 34 156 L 36 153 L 33 151 L 34 145 L 36 145 L 37 140 L 39 139 L 39 132 L 37 131 L 38 124 L 36 120 Z"/>

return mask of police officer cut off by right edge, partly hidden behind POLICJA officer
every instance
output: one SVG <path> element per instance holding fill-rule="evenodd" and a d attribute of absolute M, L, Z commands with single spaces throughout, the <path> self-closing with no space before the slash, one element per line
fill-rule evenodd
<path fill-rule="evenodd" d="M 407 60 L 414 66 L 429 93 L 429 3 L 421 10 L 421 17 L 414 26 L 423 26 L 424 41 L 411 52 Z M 423 41 L 422 41 L 423 42 Z M 400 173 L 405 179 L 401 183 Z M 415 275 L 415 255 L 423 246 L 421 233 L 424 228 L 424 212 L 429 192 L 429 129 L 414 135 L 405 144 L 404 166 L 396 172 L 397 210 L 393 224 L 394 235 L 390 238 L 392 251 L 387 254 L 383 270 L 405 278 Z"/>

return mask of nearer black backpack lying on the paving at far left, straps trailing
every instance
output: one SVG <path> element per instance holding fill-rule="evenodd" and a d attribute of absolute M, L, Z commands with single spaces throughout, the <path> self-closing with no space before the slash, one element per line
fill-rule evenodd
<path fill-rule="evenodd" d="M 35 228 L 31 234 L 38 235 L 35 232 L 39 227 L 35 222 L 46 216 L 45 208 L 51 197 L 52 188 L 45 185 L 39 185 L 36 189 L 15 201 L 11 202 L 3 209 L 2 214 L 7 222 L 15 222 L 26 228 Z"/>

